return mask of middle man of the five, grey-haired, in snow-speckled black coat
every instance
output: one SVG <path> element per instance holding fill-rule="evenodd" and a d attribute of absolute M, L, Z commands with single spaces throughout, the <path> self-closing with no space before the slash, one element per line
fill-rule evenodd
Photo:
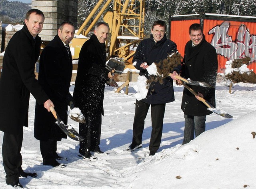
<path fill-rule="evenodd" d="M 80 156 L 92 158 L 91 152 L 103 153 L 100 150 L 101 115 L 103 112 L 104 88 L 106 82 L 113 78 L 106 69 L 106 45 L 109 27 L 104 22 L 95 26 L 94 34 L 87 40 L 80 51 L 74 99 L 82 111 L 86 123 L 79 123 Z M 116 86 L 112 80 L 111 86 Z"/>

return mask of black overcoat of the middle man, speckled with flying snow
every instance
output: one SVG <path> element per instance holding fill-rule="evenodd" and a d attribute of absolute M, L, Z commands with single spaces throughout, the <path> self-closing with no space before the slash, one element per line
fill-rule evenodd
<path fill-rule="evenodd" d="M 81 48 L 73 94 L 76 106 L 84 115 L 104 115 L 103 99 L 105 83 L 109 80 L 108 72 L 105 43 L 101 44 L 93 34 Z"/>

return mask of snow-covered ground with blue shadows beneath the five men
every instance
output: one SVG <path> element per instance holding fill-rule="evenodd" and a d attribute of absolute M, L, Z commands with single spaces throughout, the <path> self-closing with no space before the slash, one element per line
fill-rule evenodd
<path fill-rule="evenodd" d="M 120 86 L 122 82 L 118 82 Z M 36 178 L 20 177 L 30 189 L 242 189 L 256 188 L 256 84 L 234 84 L 232 94 L 224 82 L 216 84 L 216 106 L 232 119 L 212 113 L 206 117 L 206 132 L 182 144 L 184 117 L 180 109 L 183 86 L 174 84 L 175 101 L 166 104 L 162 143 L 149 157 L 150 110 L 145 119 L 142 148 L 126 151 L 132 141 L 136 82 L 130 82 L 128 95 L 106 86 L 102 117 L 101 150 L 98 161 L 78 157 L 79 143 L 70 138 L 58 142 L 57 152 L 67 161 L 63 169 L 42 165 L 39 141 L 34 139 L 35 99 L 30 97 L 29 127 L 24 127 L 22 168 L 36 172 Z M 71 85 L 72 94 L 74 86 Z M 68 119 L 78 131 L 78 123 Z M 255 133 L 254 133 L 255 135 Z M 0 143 L 3 133 L 0 132 Z M 2 151 L 2 145 L 0 145 Z M 2 155 L 0 155 L 2 164 Z M 0 166 L 0 188 L 5 184 Z"/>

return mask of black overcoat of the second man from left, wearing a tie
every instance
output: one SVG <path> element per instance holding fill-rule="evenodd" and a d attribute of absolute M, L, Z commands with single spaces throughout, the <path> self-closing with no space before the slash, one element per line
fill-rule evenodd
<path fill-rule="evenodd" d="M 54 103 L 54 109 L 66 124 L 70 81 L 72 77 L 72 57 L 68 55 L 59 36 L 44 48 L 40 56 L 38 82 Z M 34 136 L 38 140 L 60 141 L 66 134 L 55 124 L 56 119 L 43 105 L 36 103 Z"/>

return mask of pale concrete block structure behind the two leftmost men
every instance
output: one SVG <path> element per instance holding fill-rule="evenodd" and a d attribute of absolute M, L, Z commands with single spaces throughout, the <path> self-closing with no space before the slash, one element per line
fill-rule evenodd
<path fill-rule="evenodd" d="M 52 40 L 63 21 L 73 22 L 77 28 L 77 3 L 78 0 L 32 0 L 32 8 L 44 12 L 44 27 L 39 34 L 42 40 Z"/>

